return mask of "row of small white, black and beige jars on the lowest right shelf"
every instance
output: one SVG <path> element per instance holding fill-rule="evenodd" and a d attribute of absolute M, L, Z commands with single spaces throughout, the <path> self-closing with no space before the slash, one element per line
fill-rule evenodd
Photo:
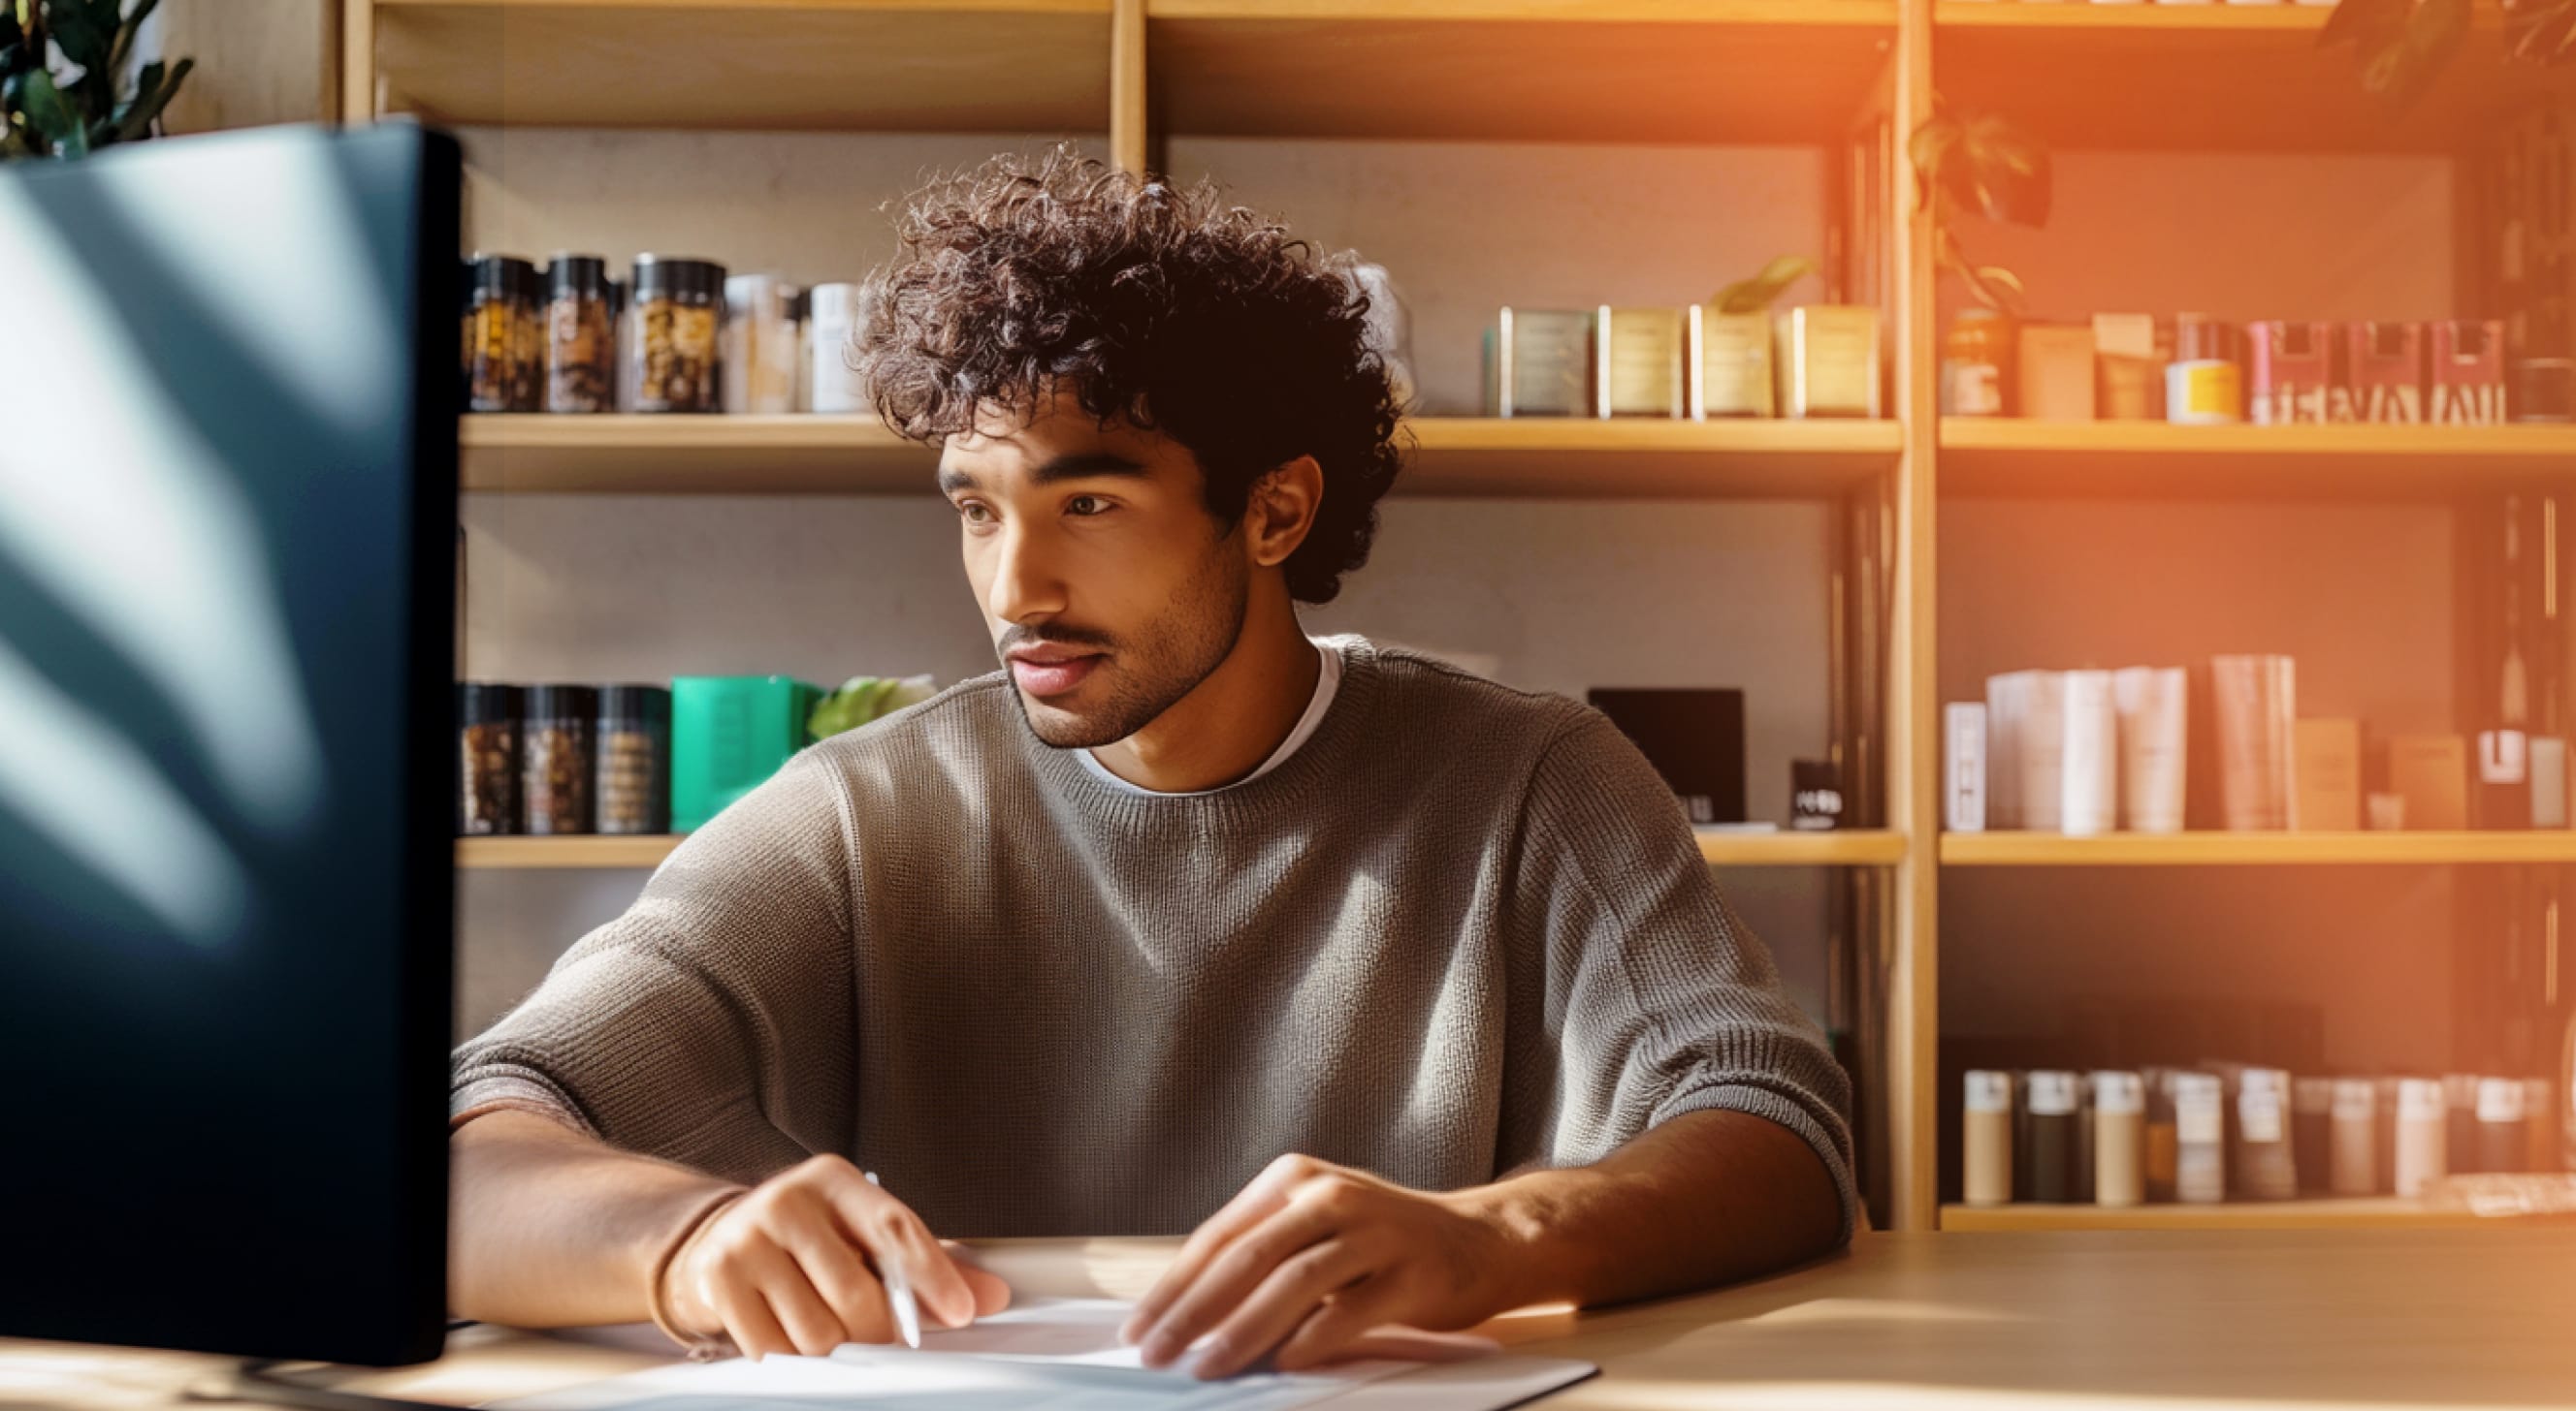
<path fill-rule="evenodd" d="M 1971 1071 L 1968 1205 L 2419 1197 L 2455 1174 L 2555 1172 L 2568 1135 L 2548 1079 L 2293 1079 L 2213 1063 Z"/>

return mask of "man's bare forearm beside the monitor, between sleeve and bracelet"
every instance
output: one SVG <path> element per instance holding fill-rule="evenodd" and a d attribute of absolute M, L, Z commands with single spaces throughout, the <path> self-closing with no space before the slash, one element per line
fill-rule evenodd
<path fill-rule="evenodd" d="M 487 1323 L 639 1323 L 644 1282 L 688 1213 L 729 1190 L 533 1112 L 448 1138 L 448 1303 Z"/>

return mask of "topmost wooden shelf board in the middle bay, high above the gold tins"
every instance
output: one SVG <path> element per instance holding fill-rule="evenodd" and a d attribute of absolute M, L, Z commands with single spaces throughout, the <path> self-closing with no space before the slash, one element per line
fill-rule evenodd
<path fill-rule="evenodd" d="M 1893 0 L 1146 0 L 1180 136 L 1824 144 Z"/>

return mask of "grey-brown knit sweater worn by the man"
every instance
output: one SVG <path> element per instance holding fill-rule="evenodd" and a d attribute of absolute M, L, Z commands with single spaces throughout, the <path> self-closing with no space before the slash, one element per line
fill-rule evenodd
<path fill-rule="evenodd" d="M 1850 1084 L 1646 757 L 1334 644 L 1314 736 L 1216 793 L 1105 785 L 1002 672 L 799 752 L 456 1053 L 453 1112 L 742 1182 L 840 1151 L 943 1236 L 1090 1236 L 1285 1151 L 1455 1190 L 1731 1107 L 1850 1236 Z"/>

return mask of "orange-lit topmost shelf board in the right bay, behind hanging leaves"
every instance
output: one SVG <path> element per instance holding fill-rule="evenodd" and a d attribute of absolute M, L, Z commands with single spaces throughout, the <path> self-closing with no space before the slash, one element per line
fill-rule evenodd
<path fill-rule="evenodd" d="M 1940 0 L 1932 62 L 1950 103 L 2002 113 L 2061 152 L 2452 154 L 2517 106 L 2576 93 L 2576 70 L 2509 59 L 2501 10 L 2481 0 L 2442 77 L 2391 116 L 2362 93 L 2349 46 L 2316 46 L 2331 13 Z"/>

